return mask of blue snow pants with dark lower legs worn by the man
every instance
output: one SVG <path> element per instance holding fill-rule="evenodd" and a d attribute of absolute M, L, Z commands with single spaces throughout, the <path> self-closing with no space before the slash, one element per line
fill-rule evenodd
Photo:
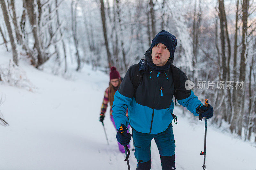
<path fill-rule="evenodd" d="M 175 169 L 175 141 L 172 124 L 161 133 L 147 134 L 132 130 L 132 138 L 135 148 L 135 158 L 138 161 L 137 169 L 147 170 L 151 168 L 151 140 L 154 138 L 162 163 L 162 169 Z"/>

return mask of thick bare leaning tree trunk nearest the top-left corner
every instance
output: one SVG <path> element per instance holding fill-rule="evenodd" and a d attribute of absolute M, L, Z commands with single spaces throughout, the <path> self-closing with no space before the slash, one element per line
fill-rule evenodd
<path fill-rule="evenodd" d="M 8 30 L 9 38 L 10 38 L 11 45 L 12 45 L 12 60 L 16 65 L 18 65 L 18 63 L 19 63 L 19 61 L 18 61 L 18 52 L 17 52 L 17 49 L 16 49 L 16 43 L 15 43 L 14 38 L 13 38 L 12 27 L 11 27 L 7 7 L 6 7 L 6 4 L 5 4 L 5 0 L 0 0 L 0 4 L 1 4 L 1 7 L 2 7 L 4 22 L 5 22 L 6 28 Z"/>

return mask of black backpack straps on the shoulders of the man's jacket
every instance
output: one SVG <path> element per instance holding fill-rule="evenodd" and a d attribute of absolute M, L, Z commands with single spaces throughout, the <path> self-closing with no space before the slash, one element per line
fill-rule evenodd
<path fill-rule="evenodd" d="M 179 73 L 178 68 L 173 64 L 171 64 L 171 71 L 172 71 L 173 84 L 174 84 L 174 96 L 176 96 L 176 93 L 179 91 L 179 87 L 180 87 L 180 73 Z M 135 69 L 135 74 L 133 77 L 133 81 L 132 81 L 134 91 L 136 91 L 138 86 L 140 85 L 140 81 L 141 81 L 142 77 L 143 77 L 143 74 L 140 74 L 139 64 L 137 64 L 136 69 Z M 177 102 L 176 102 L 176 97 L 175 97 L 175 106 L 176 105 L 177 105 Z M 171 114 L 174 119 L 174 123 L 177 124 L 178 123 L 177 116 L 174 115 L 173 113 L 171 113 Z"/>

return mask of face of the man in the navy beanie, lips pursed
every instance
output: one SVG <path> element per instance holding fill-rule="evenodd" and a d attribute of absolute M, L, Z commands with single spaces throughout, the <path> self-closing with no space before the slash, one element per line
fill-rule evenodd
<path fill-rule="evenodd" d="M 151 56 L 153 63 L 156 64 L 156 66 L 161 67 L 167 63 L 170 57 L 170 52 L 164 44 L 158 43 L 152 48 Z"/>

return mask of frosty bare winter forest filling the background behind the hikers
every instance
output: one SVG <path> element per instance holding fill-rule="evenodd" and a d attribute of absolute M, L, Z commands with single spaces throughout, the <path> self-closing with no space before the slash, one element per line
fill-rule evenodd
<path fill-rule="evenodd" d="M 174 65 L 214 109 L 210 123 L 256 143 L 255 0 L 0 0 L 0 46 L 12 53 L 0 81 L 25 60 L 68 74 L 92 65 L 124 76 L 161 30 L 178 40 Z M 4 57 L 4 56 L 1 56 Z M 15 84 L 15 83 L 14 83 Z M 2 101 L 2 100 L 0 100 Z M 0 102 L 1 105 L 1 102 Z M 184 111 L 185 114 L 185 111 Z M 4 119 L 2 119 L 4 120 Z M 8 120 L 6 120 L 8 122 Z"/>

